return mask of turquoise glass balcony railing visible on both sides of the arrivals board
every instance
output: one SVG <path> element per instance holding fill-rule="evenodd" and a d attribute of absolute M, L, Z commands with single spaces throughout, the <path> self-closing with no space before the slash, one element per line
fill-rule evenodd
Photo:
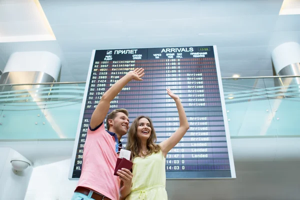
<path fill-rule="evenodd" d="M 300 85 L 294 79 L 223 78 L 231 137 L 300 135 Z M 85 82 L 0 85 L 0 139 L 74 139 L 84 87 Z"/>

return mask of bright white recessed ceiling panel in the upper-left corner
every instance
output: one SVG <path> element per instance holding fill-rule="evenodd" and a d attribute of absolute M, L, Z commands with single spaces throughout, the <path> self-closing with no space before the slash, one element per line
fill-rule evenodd
<path fill-rule="evenodd" d="M 0 0 L 0 42 L 55 40 L 38 1 Z"/>

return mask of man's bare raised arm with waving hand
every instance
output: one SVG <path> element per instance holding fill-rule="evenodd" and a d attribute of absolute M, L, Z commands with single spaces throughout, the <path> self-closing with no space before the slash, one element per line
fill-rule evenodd
<path fill-rule="evenodd" d="M 101 97 L 100 102 L 93 111 L 90 119 L 90 128 L 97 127 L 103 122 L 108 110 L 110 101 L 122 90 L 122 88 L 132 79 L 142 80 L 144 75 L 143 68 L 136 68 L 133 71 L 129 71 L 126 75 L 116 81 Z"/>

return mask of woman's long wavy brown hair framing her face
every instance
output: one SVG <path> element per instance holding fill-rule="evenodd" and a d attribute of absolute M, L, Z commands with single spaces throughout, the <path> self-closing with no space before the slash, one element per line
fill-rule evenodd
<path fill-rule="evenodd" d="M 147 139 L 147 144 L 146 144 L 147 149 L 148 149 L 148 152 L 146 154 L 143 154 L 142 152 L 140 152 L 141 151 L 141 142 L 136 134 L 138 120 L 141 118 L 148 119 L 148 121 L 150 122 L 150 127 L 151 127 L 151 133 L 150 133 L 149 138 Z M 128 137 L 127 137 L 127 147 L 126 147 L 127 150 L 131 151 L 132 160 L 134 157 L 139 157 L 140 155 L 145 157 L 147 155 L 152 154 L 153 152 L 157 153 L 160 150 L 160 146 L 155 144 L 155 142 L 156 142 L 156 133 L 155 133 L 155 130 L 153 127 L 152 120 L 148 116 L 143 116 L 143 115 L 136 117 L 132 121 L 131 126 L 129 128 Z"/>

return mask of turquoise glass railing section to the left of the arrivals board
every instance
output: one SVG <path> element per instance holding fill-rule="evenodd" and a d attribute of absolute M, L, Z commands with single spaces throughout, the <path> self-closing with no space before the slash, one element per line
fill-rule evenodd
<path fill-rule="evenodd" d="M 0 86 L 0 139 L 75 137 L 85 83 Z"/>

